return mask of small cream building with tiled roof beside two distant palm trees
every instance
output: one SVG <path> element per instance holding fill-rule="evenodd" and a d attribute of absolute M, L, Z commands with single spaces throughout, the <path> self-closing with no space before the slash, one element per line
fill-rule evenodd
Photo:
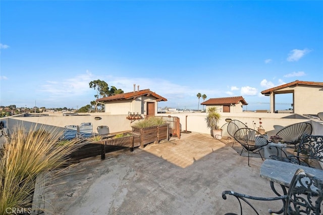
<path fill-rule="evenodd" d="M 210 98 L 201 103 L 206 106 L 206 109 L 210 106 L 217 106 L 219 112 L 223 113 L 242 113 L 243 105 L 248 103 L 242 96 L 235 97 L 223 97 L 223 98 Z"/>

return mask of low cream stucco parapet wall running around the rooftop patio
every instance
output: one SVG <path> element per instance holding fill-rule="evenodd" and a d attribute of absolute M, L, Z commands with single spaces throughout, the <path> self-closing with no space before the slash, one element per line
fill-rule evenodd
<path fill-rule="evenodd" d="M 6 125 L 10 131 L 14 130 L 16 125 L 24 122 L 26 128 L 30 128 L 37 124 L 57 126 L 63 128 L 66 125 L 80 125 L 81 123 L 91 122 L 93 124 L 93 132 L 97 133 L 97 126 L 106 125 L 110 129 L 110 133 L 129 131 L 131 130 L 130 120 L 127 120 L 128 115 L 109 115 L 105 113 L 89 113 L 78 116 L 63 116 L 63 114 L 50 114 L 45 117 L 23 117 L 24 115 L 17 115 L 13 117 L 1 118 L 1 121 L 7 121 Z M 167 113 L 157 114 L 157 116 L 172 116 L 179 117 L 181 123 L 181 130 L 187 130 L 197 133 L 211 134 L 210 129 L 206 127 L 206 113 Z M 261 118 L 262 127 L 268 133 L 268 136 L 275 134 L 274 125 L 287 126 L 299 122 L 309 122 L 313 126 L 314 135 L 323 135 L 323 121 L 316 119 L 307 119 L 305 117 L 294 114 L 271 114 L 271 113 L 221 113 L 221 120 L 219 126 L 226 123 L 226 119 L 239 120 L 245 123 L 249 128 L 254 128 L 253 121 L 256 127 L 259 126 L 259 118 Z M 100 117 L 101 120 L 95 120 Z M 297 119 L 299 118 L 299 119 Z M 0 138 L 0 143 L 4 141 L 4 137 Z"/>

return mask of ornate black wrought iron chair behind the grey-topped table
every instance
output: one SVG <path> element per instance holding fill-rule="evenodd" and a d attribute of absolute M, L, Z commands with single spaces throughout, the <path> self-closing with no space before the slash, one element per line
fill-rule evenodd
<path fill-rule="evenodd" d="M 311 160 L 317 160 L 318 162 L 323 163 L 323 136 L 320 135 L 303 136 L 302 140 L 299 143 L 296 155 L 287 155 L 282 148 L 276 148 L 277 151 L 281 150 L 281 154 L 283 156 L 271 155 L 271 159 L 293 163 L 305 167 L 311 167 Z"/>

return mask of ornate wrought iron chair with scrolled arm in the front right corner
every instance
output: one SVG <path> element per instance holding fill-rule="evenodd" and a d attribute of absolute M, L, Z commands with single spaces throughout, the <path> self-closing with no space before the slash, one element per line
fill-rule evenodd
<path fill-rule="evenodd" d="M 282 200 L 283 214 L 315 214 L 319 215 L 323 212 L 323 180 L 313 175 L 306 174 L 302 169 L 296 171 L 290 183 L 288 193 L 277 197 L 255 197 L 231 190 L 222 192 L 222 198 L 227 199 L 227 195 L 235 196 L 240 204 L 240 214 L 242 215 L 242 204 L 244 201 L 248 204 L 256 214 L 259 214 L 256 208 L 247 200 L 274 201 Z M 272 213 L 272 210 L 269 210 Z M 237 213 L 226 213 L 237 214 Z"/>

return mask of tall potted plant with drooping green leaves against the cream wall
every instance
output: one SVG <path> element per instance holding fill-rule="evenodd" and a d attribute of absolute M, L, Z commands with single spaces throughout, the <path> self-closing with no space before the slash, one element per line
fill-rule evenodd
<path fill-rule="evenodd" d="M 218 125 L 220 119 L 221 115 L 216 106 L 212 106 L 207 109 L 207 116 L 205 119 L 207 128 L 210 128 L 212 130 L 213 137 L 219 140 L 222 138 L 222 129 L 220 129 Z"/>

